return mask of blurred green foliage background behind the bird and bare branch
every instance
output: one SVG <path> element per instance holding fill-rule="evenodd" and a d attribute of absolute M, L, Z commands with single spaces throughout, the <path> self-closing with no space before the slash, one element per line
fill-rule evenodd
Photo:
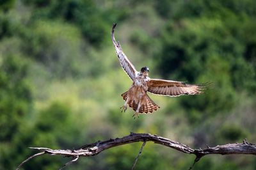
<path fill-rule="evenodd" d="M 191 148 L 256 143 L 256 1 L 9 0 L 0 3 L 0 169 L 28 147 L 72 149 L 130 132 Z M 151 96 L 161 107 L 132 119 L 120 94 L 131 85 L 110 32 L 150 77 L 213 82 L 204 95 Z M 81 158 L 66 169 L 131 169 L 141 143 Z M 188 169 L 194 157 L 147 143 L 136 169 Z M 58 169 L 38 157 L 23 169 Z M 250 155 L 211 155 L 195 169 L 256 169 Z"/>

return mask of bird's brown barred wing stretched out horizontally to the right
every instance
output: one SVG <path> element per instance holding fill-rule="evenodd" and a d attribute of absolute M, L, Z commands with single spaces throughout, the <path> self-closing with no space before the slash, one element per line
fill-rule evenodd
<path fill-rule="evenodd" d="M 206 85 L 206 84 L 205 84 Z M 156 95 L 179 97 L 180 95 L 199 95 L 203 93 L 205 85 L 186 84 L 179 81 L 150 79 L 148 91 Z"/>

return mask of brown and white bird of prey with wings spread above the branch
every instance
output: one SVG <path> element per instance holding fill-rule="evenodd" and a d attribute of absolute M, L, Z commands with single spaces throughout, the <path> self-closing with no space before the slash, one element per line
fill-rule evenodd
<path fill-rule="evenodd" d="M 131 88 L 121 95 L 125 100 L 124 105 L 120 107 L 121 112 L 125 112 L 129 105 L 135 111 L 133 114 L 135 119 L 139 117 L 139 114 L 148 114 L 157 111 L 160 108 L 159 105 L 147 95 L 147 92 L 169 97 L 204 93 L 207 84 L 186 84 L 182 81 L 150 79 L 148 77 L 149 68 L 147 66 L 143 66 L 140 72 L 138 72 L 127 56 L 125 56 L 120 43 L 116 42 L 114 36 L 115 27 L 116 24 L 113 24 L 111 31 L 111 39 L 115 47 L 115 52 L 120 65 L 132 80 Z"/>

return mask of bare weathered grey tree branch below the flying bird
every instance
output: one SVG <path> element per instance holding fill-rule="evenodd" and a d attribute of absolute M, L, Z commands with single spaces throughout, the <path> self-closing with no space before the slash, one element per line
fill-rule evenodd
<path fill-rule="evenodd" d="M 221 155 L 230 155 L 230 154 L 251 154 L 256 155 L 256 145 L 252 143 L 248 143 L 246 139 L 243 140 L 243 143 L 233 143 L 233 144 L 223 144 L 218 145 L 215 147 L 209 147 L 202 150 L 201 148 L 199 150 L 189 148 L 188 145 L 181 144 L 175 141 L 172 141 L 170 139 L 161 137 L 159 135 L 152 135 L 152 134 L 134 134 L 131 132 L 130 135 L 124 136 L 122 138 L 116 138 L 116 139 L 109 139 L 107 141 L 98 141 L 96 143 L 92 144 L 85 144 L 84 146 L 81 146 L 81 148 L 78 148 L 77 150 L 52 150 L 50 148 L 31 148 L 35 150 L 39 150 L 40 153 L 36 153 L 35 155 L 27 158 L 22 162 L 17 169 L 19 169 L 24 163 L 28 162 L 33 157 L 36 157 L 38 155 L 42 154 L 49 154 L 49 155 L 62 155 L 65 157 L 72 157 L 73 159 L 65 164 L 65 166 L 68 166 L 72 162 L 76 162 L 76 160 L 79 157 L 90 157 L 99 154 L 101 151 L 108 150 L 109 148 L 113 148 L 115 146 L 120 146 L 123 144 L 129 144 L 129 143 L 136 143 L 136 142 L 143 142 L 146 143 L 148 141 L 152 141 L 156 144 L 161 144 L 164 146 L 167 146 L 169 148 L 173 148 L 177 151 L 181 151 L 183 153 L 188 154 L 194 154 L 196 155 L 195 162 L 193 166 L 195 165 L 200 158 L 204 157 L 205 155 L 210 154 L 221 154 Z M 141 146 L 143 148 L 143 146 Z M 142 149 L 141 149 L 142 151 Z M 139 153 L 140 155 L 140 153 Z M 138 155 L 138 156 L 139 156 Z M 138 159 L 138 158 L 136 158 Z M 136 163 L 135 163 L 136 164 Z M 63 167 L 65 167 L 63 166 Z M 192 166 L 192 167 L 193 167 Z M 191 168 L 192 168 L 191 167 Z"/>

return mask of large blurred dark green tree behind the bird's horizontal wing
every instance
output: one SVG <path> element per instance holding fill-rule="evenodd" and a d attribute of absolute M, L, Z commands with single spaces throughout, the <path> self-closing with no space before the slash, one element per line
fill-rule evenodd
<path fill-rule="evenodd" d="M 191 123 L 207 115 L 230 111 L 236 104 L 237 91 L 246 89 L 252 94 L 256 88 L 255 34 L 250 31 L 255 26 L 247 24 L 254 20 L 249 16 L 255 13 L 247 4 L 252 2 L 244 2 L 242 10 L 237 8 L 238 2 L 222 2 L 180 4 L 178 8 L 183 6 L 188 10 L 184 12 L 182 7 L 183 10 L 173 13 L 177 18 L 167 23 L 161 34 L 163 45 L 157 61 L 163 77 L 214 82 L 214 89 L 204 97 L 179 98 Z M 245 38 L 244 30 L 251 32 L 252 37 Z"/>

